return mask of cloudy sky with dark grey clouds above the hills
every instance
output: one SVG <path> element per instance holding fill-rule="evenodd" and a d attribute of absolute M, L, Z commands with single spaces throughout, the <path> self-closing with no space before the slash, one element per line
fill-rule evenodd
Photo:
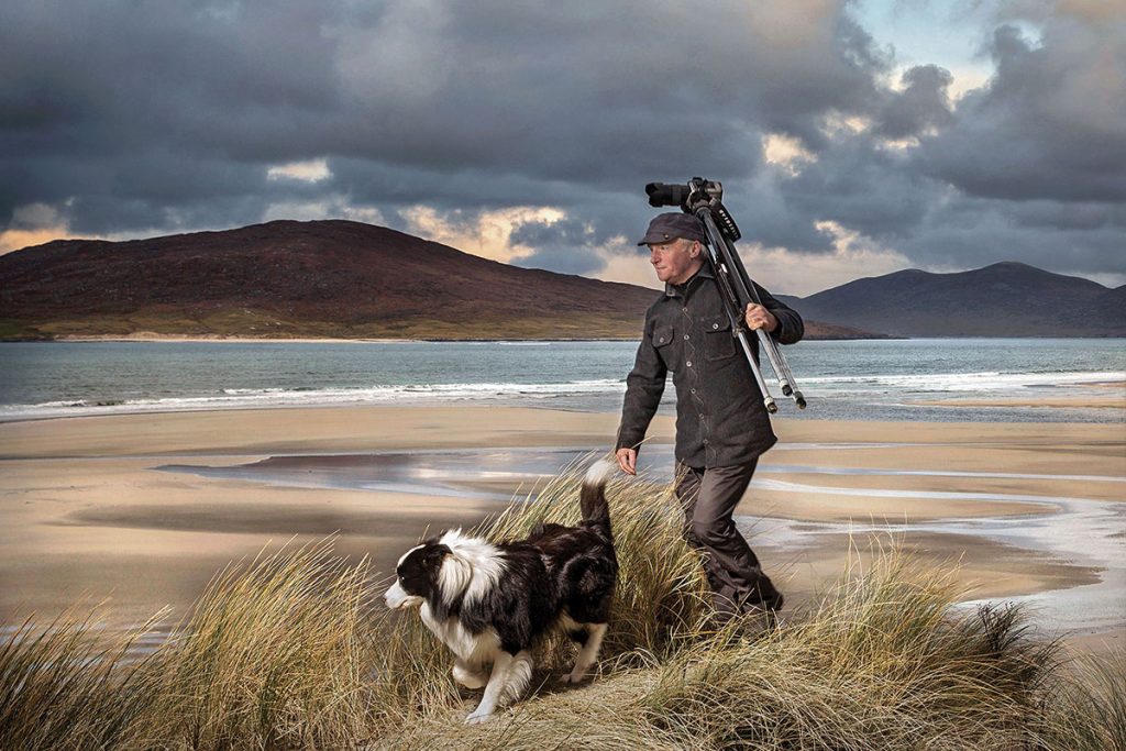
<path fill-rule="evenodd" d="M 653 286 L 643 187 L 694 175 L 775 292 L 1121 285 L 1126 2 L 0 5 L 0 252 L 342 217 Z"/>

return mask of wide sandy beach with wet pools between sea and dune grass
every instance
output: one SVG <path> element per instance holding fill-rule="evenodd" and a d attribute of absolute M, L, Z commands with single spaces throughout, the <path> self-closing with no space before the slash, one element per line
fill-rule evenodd
<path fill-rule="evenodd" d="M 372 472 L 364 463 L 373 452 L 439 463 L 445 454 L 437 449 L 479 452 L 485 470 L 488 449 L 606 450 L 616 427 L 615 414 L 467 405 L 0 423 L 0 622 L 32 611 L 52 617 L 80 599 L 108 599 L 108 622 L 118 625 L 164 605 L 180 616 L 230 561 L 337 531 L 338 551 L 369 555 L 390 571 L 428 528 L 473 525 L 503 508 L 497 498 L 526 492 L 557 465 L 535 466 L 536 458 L 500 479 L 467 479 L 457 490 L 314 480 L 346 476 L 349 462 Z M 787 609 L 831 585 L 850 545 L 866 546 L 869 533 L 886 543 L 894 531 L 923 564 L 960 561 L 967 599 L 1047 592 L 1046 608 L 1060 597 L 1074 614 L 1073 624 L 1056 627 L 1082 649 L 1126 643 L 1126 580 L 1099 557 L 1126 551 L 1126 427 L 807 420 L 776 427 L 781 442 L 760 464 L 740 513 L 787 593 Z M 672 429 L 671 419 L 659 417 L 643 457 L 668 454 Z M 247 466 L 272 471 L 268 462 L 256 464 L 269 457 L 278 457 L 271 462 L 288 480 L 221 476 Z M 336 457 L 339 466 L 322 471 L 318 462 L 325 459 L 318 457 Z M 307 483 L 294 481 L 302 463 L 313 479 Z M 1080 549 L 1071 553 L 1069 535 L 1091 535 L 1081 524 L 1111 531 L 1097 545 L 1072 540 Z"/>

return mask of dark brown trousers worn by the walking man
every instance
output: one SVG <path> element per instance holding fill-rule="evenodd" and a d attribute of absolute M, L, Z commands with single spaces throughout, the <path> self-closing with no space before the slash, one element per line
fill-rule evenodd
<path fill-rule="evenodd" d="M 678 466 L 677 498 L 685 509 L 685 537 L 704 554 L 704 569 L 721 616 L 781 607 L 781 593 L 762 573 L 731 518 L 757 465 L 756 459 L 707 470 Z"/>

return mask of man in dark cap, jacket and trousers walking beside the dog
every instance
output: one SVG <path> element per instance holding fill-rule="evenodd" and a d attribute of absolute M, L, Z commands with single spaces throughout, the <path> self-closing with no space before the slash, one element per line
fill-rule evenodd
<path fill-rule="evenodd" d="M 759 456 L 778 438 L 762 394 L 704 254 L 706 238 L 690 214 L 661 214 L 638 245 L 664 294 L 645 314 L 645 330 L 626 379 L 616 454 L 636 474 L 637 449 L 672 373 L 677 390 L 677 497 L 685 504 L 688 543 L 704 553 L 721 620 L 739 613 L 772 613 L 783 596 L 732 521 Z M 747 325 L 765 329 L 784 345 L 798 341 L 802 318 L 756 285 L 762 305 L 748 305 Z M 758 338 L 749 337 L 758 357 Z"/>

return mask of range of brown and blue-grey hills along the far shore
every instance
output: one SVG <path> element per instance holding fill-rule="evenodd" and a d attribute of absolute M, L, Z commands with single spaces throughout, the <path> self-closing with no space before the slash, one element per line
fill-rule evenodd
<path fill-rule="evenodd" d="M 658 294 L 369 224 L 279 221 L 0 256 L 0 338 L 632 339 Z M 1126 336 L 1126 287 L 1021 263 L 900 271 L 785 299 L 814 339 Z"/>

